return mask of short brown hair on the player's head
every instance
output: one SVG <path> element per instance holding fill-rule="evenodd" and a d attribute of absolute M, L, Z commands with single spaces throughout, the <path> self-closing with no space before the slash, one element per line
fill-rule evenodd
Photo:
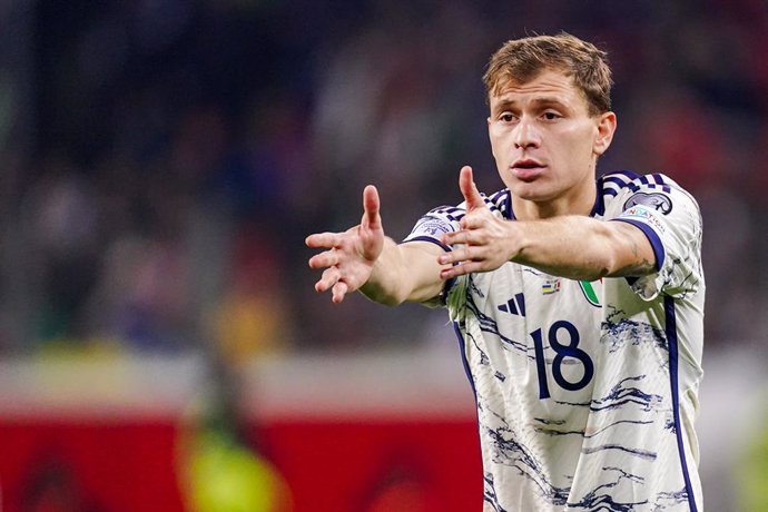
<path fill-rule="evenodd" d="M 483 76 L 486 100 L 505 85 L 526 83 L 545 69 L 573 79 L 587 98 L 591 116 L 610 111 L 613 81 L 608 53 L 567 32 L 506 41 L 493 53 Z"/>

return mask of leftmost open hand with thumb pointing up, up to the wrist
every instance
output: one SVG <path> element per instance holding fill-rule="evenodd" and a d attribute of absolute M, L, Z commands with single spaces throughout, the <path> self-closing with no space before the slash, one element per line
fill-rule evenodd
<path fill-rule="evenodd" d="M 382 254 L 384 228 L 380 206 L 376 187 L 368 185 L 363 190 L 360 225 L 344 233 L 317 233 L 305 240 L 307 247 L 328 249 L 309 258 L 309 267 L 325 268 L 315 289 L 319 293 L 331 289 L 332 301 L 336 304 L 368 280 Z"/>

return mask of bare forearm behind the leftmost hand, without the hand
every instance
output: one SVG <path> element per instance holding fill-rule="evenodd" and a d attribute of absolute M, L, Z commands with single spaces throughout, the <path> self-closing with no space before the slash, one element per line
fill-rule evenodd
<path fill-rule="evenodd" d="M 437 246 L 427 243 L 396 244 L 385 238 L 384 249 L 368 280 L 360 292 L 371 301 L 387 306 L 404 302 L 425 302 L 440 294 Z"/>

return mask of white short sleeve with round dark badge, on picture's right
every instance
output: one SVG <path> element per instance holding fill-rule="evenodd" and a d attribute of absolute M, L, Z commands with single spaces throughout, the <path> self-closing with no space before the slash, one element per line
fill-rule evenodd
<path fill-rule="evenodd" d="M 620 198 L 620 213 L 610 219 L 638 227 L 653 247 L 658 272 L 629 279 L 632 289 L 646 301 L 661 293 L 683 298 L 702 283 L 699 206 L 687 191 L 670 183 L 663 187 L 632 187 Z"/>

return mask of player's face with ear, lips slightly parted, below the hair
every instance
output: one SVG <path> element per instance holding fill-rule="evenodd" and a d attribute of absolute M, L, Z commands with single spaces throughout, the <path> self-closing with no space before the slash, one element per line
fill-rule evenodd
<path fill-rule="evenodd" d="M 490 98 L 488 119 L 501 179 L 520 199 L 578 204 L 593 199 L 597 157 L 610 145 L 616 116 L 590 116 L 570 77 L 544 70 Z M 583 200 L 582 200 L 583 201 Z M 559 208 L 562 209 L 562 208 Z"/>

